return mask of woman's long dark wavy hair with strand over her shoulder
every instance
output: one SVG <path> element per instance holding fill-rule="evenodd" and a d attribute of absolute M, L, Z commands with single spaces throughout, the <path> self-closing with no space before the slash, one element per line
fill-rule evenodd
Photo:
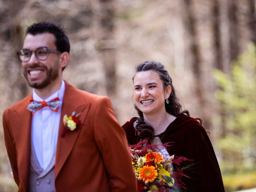
<path fill-rule="evenodd" d="M 179 99 L 176 97 L 175 89 L 172 84 L 172 78 L 168 74 L 167 70 L 164 68 L 163 64 L 155 61 L 145 61 L 137 66 L 136 73 L 142 72 L 142 71 L 149 71 L 149 70 L 154 70 L 159 74 L 159 77 L 163 82 L 164 88 L 168 87 L 169 85 L 172 88 L 172 92 L 168 98 L 169 104 L 165 102 L 166 112 L 168 112 L 173 116 L 178 116 L 179 114 L 182 114 L 182 113 L 186 113 L 189 116 L 189 112 L 187 110 L 184 110 L 181 112 L 182 106 L 179 102 Z M 133 76 L 132 80 L 134 80 L 135 76 L 136 74 Z M 136 125 L 136 129 L 140 132 L 139 138 L 141 139 L 148 138 L 149 140 L 152 140 L 154 138 L 154 129 L 152 128 L 152 126 L 147 125 L 144 122 L 143 113 L 138 109 L 138 107 L 136 105 L 134 105 L 134 107 L 138 112 L 138 115 L 140 116 L 139 118 L 134 119 L 134 121 L 138 122 L 138 124 Z"/>

